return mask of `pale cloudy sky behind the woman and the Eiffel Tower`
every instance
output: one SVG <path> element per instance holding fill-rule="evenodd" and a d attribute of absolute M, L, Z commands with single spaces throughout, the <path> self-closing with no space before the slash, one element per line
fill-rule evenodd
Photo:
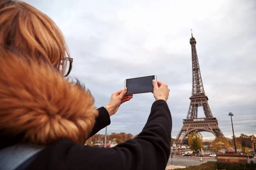
<path fill-rule="evenodd" d="M 225 136 L 256 134 L 255 0 L 25 0 L 55 21 L 74 58 L 71 77 L 105 106 L 124 79 L 157 75 L 176 137 L 192 91 L 190 29 L 197 41 L 204 90 Z M 108 133 L 140 133 L 154 102 L 137 94 L 111 116 Z M 203 117 L 202 108 L 198 117 Z M 105 133 L 105 129 L 100 133 Z M 202 133 L 212 139 L 211 133 Z"/>

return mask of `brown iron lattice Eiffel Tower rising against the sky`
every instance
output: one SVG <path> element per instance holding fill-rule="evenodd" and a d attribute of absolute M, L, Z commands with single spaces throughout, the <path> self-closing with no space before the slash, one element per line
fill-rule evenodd
<path fill-rule="evenodd" d="M 192 30 L 191 30 L 192 31 Z M 189 111 L 186 119 L 183 119 L 183 127 L 176 137 L 177 143 L 181 146 L 187 144 L 187 138 L 192 132 L 210 132 L 215 137 L 224 137 L 218 121 L 212 116 L 208 105 L 208 97 L 204 93 L 204 86 L 201 77 L 198 56 L 195 48 L 195 38 L 191 32 L 190 45 L 192 50 L 192 96 L 190 99 Z M 198 107 L 203 107 L 204 118 L 198 118 Z"/>

